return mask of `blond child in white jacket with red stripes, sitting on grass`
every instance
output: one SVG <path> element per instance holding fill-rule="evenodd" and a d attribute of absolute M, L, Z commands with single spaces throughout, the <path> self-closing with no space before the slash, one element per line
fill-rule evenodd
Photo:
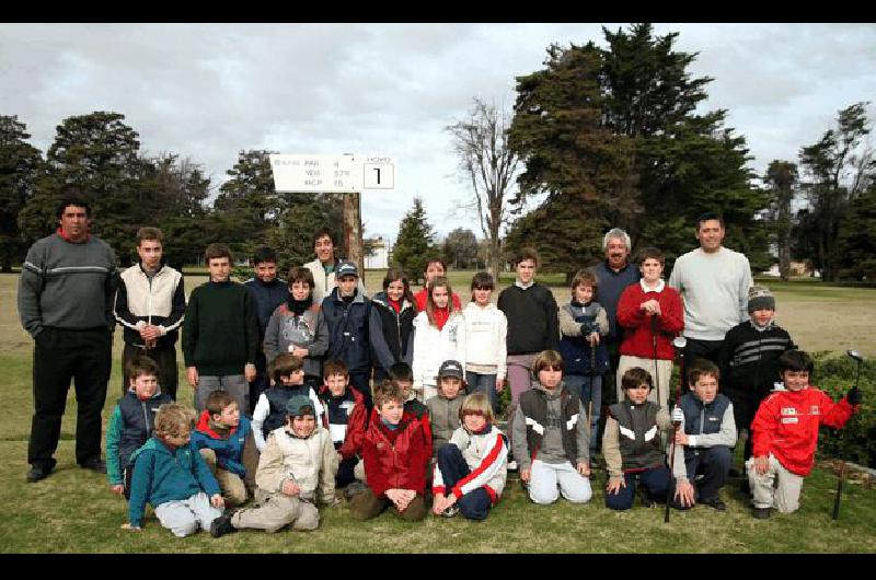
<path fill-rule="evenodd" d="M 493 425 L 493 407 L 484 393 L 469 395 L 459 410 L 462 426 L 438 451 L 433 482 L 433 512 L 485 520 L 505 488 L 508 445 Z"/>

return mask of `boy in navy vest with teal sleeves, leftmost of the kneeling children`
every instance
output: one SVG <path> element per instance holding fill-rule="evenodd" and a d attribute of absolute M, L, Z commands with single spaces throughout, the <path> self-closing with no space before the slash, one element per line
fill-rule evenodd
<path fill-rule="evenodd" d="M 159 407 L 173 403 L 161 392 L 152 359 L 132 359 L 127 375 L 128 392 L 118 399 L 106 428 L 106 478 L 110 488 L 125 499 L 130 498 L 131 454 L 151 437 Z"/>

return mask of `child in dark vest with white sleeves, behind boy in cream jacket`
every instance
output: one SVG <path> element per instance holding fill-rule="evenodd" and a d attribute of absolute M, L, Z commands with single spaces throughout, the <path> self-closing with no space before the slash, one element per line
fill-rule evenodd
<path fill-rule="evenodd" d="M 265 449 L 268 433 L 286 425 L 286 404 L 296 395 L 302 395 L 313 402 L 316 422 L 322 421 L 324 409 L 316 393 L 304 381 L 304 361 L 291 352 L 280 352 L 270 362 L 268 372 L 274 384 L 266 388 L 255 404 L 253 411 L 253 437 L 258 451 Z"/>

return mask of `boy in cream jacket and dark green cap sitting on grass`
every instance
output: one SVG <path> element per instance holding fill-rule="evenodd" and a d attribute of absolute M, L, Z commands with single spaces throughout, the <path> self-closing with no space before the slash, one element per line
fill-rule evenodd
<path fill-rule="evenodd" d="M 268 434 L 255 473 L 257 508 L 222 515 L 210 526 L 220 537 L 243 527 L 276 532 L 315 530 L 318 499 L 335 504 L 337 453 L 328 431 L 316 424 L 313 403 L 296 395 L 286 405 L 286 425 Z"/>

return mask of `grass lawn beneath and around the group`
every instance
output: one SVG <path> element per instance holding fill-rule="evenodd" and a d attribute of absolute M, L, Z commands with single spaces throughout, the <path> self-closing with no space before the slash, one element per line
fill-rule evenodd
<path fill-rule="evenodd" d="M 451 272 L 463 302 L 471 274 Z M 368 289 L 379 288 L 381 279 L 382 272 L 367 272 Z M 187 278 L 187 288 L 201 280 Z M 593 499 L 584 506 L 562 499 L 553 506 L 535 506 L 526 498 L 516 474 L 510 474 L 502 502 L 483 523 L 429 517 L 423 523 L 405 524 L 389 513 L 371 522 L 356 522 L 342 506 L 322 508 L 320 527 L 310 533 L 250 531 L 220 540 L 198 533 L 175 540 L 150 509 L 142 533 L 125 532 L 119 530 L 127 519 L 125 500 L 110 491 L 104 477 L 80 469 L 73 460 L 72 390 L 56 472 L 37 484 L 25 483 L 33 409 L 32 341 L 15 311 L 16 283 L 18 276 L 0 275 L 0 399 L 7 409 L 0 416 L 0 455 L 4 459 L 0 463 L 0 553 L 876 553 L 876 492 L 868 484 L 849 480 L 843 489 L 841 519 L 833 522 L 837 485 L 827 468 L 816 468 L 806 479 L 797 513 L 776 514 L 766 521 L 754 520 L 747 500 L 731 487 L 722 492 L 728 504 L 725 513 L 703 507 L 685 513 L 673 510 L 670 523 L 665 524 L 661 509 L 637 506 L 629 512 L 611 512 L 603 503 L 604 472 L 597 471 Z M 817 290 L 821 288 L 812 291 Z M 848 309 L 848 314 L 830 320 L 828 327 L 845 328 L 857 317 L 873 316 L 876 293 L 852 288 L 826 290 L 823 300 L 811 300 L 812 291 L 806 289 L 798 297 L 792 285 L 789 289 L 776 288 L 776 300 L 783 324 L 804 348 L 841 350 L 819 341 L 826 330 L 810 332 L 807 318 L 833 301 L 835 306 Z M 568 295 L 562 286 L 554 292 L 561 302 Z M 791 321 L 796 320 L 793 315 L 799 310 L 804 311 L 799 326 L 792 326 Z M 873 356 L 876 339 L 873 326 L 869 328 L 848 339 L 854 338 L 857 348 Z M 116 333 L 104 420 L 122 391 L 117 363 L 120 349 L 120 333 Z M 182 373 L 180 393 L 181 402 L 192 403 L 192 391 Z"/>

